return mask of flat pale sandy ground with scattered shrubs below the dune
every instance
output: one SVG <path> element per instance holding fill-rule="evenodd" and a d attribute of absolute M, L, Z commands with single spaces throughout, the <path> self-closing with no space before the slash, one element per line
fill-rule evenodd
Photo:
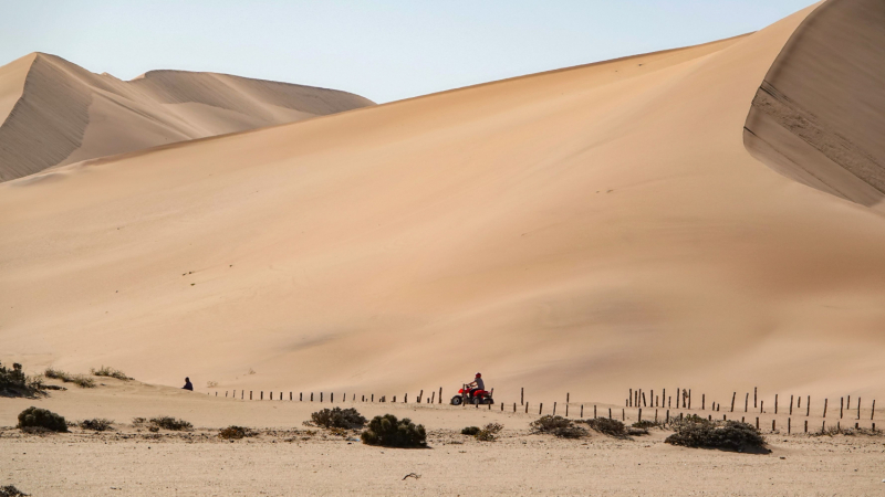
<path fill-rule="evenodd" d="M 392 450 L 365 446 L 355 433 L 344 438 L 304 426 L 311 412 L 331 405 L 327 401 L 232 401 L 138 382 L 101 381 L 104 384 L 96 389 L 72 388 L 46 399 L 0 402 L 0 426 L 6 426 L 0 430 L 1 485 L 39 496 L 860 496 L 879 495 L 885 485 L 885 436 L 772 433 L 766 429 L 770 415 L 763 416 L 762 432 L 772 453 L 754 455 L 670 446 L 663 443 L 668 432 L 659 430 L 633 440 L 600 434 L 556 440 L 529 432 L 538 415 L 501 413 L 497 405 L 488 411 L 402 402 L 336 403 L 355 406 L 366 416 L 389 412 L 410 417 L 427 427 L 430 448 Z M 51 409 L 69 421 L 108 417 L 115 430 L 94 433 L 72 427 L 69 434 L 25 435 L 11 426 L 29 405 Z M 636 411 L 627 413 L 635 421 Z M 196 429 L 154 434 L 131 423 L 132 417 L 154 415 L 181 417 Z M 490 422 L 504 425 L 496 442 L 481 443 L 459 433 L 464 426 Z M 261 434 L 237 442 L 219 440 L 218 429 L 230 424 L 251 426 Z M 420 478 L 403 480 L 410 473 Z"/>

